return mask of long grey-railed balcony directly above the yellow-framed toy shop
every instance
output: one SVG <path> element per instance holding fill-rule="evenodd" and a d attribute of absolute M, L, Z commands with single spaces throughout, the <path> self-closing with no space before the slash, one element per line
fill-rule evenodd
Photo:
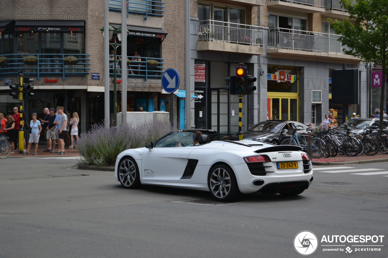
<path fill-rule="evenodd" d="M 317 60 L 322 62 L 346 62 L 358 64 L 360 59 L 345 55 L 338 39 L 340 35 L 274 28 L 268 32 L 268 57 Z"/>

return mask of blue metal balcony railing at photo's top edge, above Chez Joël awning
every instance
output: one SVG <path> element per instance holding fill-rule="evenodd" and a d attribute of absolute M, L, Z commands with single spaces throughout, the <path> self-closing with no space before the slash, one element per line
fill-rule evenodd
<path fill-rule="evenodd" d="M 145 15 L 144 20 L 147 20 L 147 16 L 163 16 L 165 10 L 165 2 L 161 0 L 128 0 L 126 2 L 127 17 L 128 13 Z M 109 0 L 109 10 L 121 12 L 121 0 Z"/>

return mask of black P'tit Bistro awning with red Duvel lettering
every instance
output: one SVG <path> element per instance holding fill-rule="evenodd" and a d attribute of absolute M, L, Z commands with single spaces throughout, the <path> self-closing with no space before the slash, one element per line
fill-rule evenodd
<path fill-rule="evenodd" d="M 16 21 L 16 31 L 84 31 L 84 21 Z"/>

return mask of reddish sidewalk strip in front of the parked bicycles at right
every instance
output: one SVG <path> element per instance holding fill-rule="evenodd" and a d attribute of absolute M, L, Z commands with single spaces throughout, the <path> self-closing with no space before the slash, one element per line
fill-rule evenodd
<path fill-rule="evenodd" d="M 360 156 L 348 157 L 346 155 L 337 155 L 336 157 L 325 158 L 313 158 L 312 164 L 317 166 L 332 166 L 332 165 L 350 165 L 350 164 L 367 164 L 367 163 L 379 163 L 388 162 L 388 155 L 378 153 L 373 156 L 367 156 L 362 154 Z"/>

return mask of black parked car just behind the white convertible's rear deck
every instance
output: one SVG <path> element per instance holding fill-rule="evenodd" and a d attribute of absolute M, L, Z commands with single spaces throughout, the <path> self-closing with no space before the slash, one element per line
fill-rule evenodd
<path fill-rule="evenodd" d="M 288 131 L 286 122 L 288 122 L 290 126 L 294 126 L 293 128 L 296 128 L 298 132 L 306 132 L 308 128 L 304 124 L 296 121 L 267 120 L 255 124 L 255 126 L 252 126 L 248 129 L 248 131 L 243 132 L 242 134 L 245 139 L 265 141 L 267 143 L 278 145 L 281 144 L 284 139 L 290 138 L 290 136 L 286 134 Z"/>

